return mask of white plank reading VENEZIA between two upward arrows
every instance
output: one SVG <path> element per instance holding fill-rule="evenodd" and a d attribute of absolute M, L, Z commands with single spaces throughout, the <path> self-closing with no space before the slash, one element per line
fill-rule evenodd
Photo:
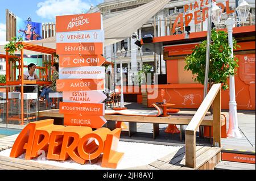
<path fill-rule="evenodd" d="M 72 31 L 56 33 L 56 43 L 101 43 L 104 42 L 104 30 Z"/>

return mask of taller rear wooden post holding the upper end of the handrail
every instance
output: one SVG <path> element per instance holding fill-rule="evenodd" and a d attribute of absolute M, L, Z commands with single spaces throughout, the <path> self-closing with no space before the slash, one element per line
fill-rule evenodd
<path fill-rule="evenodd" d="M 221 90 L 212 103 L 213 106 L 213 146 L 221 147 Z"/>

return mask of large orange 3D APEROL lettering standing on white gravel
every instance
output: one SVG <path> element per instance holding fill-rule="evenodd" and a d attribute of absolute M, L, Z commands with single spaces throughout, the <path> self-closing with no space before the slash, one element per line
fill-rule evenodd
<path fill-rule="evenodd" d="M 103 154 L 101 167 L 115 169 L 123 157 L 117 151 L 120 133 L 119 128 L 92 131 L 90 127 L 54 125 L 53 120 L 35 121 L 22 129 L 10 157 L 25 154 L 25 159 L 46 157 L 55 161 L 71 158 L 84 165 Z"/>

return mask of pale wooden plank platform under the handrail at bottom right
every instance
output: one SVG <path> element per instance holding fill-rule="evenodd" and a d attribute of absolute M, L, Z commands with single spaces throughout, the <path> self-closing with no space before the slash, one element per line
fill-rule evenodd
<path fill-rule="evenodd" d="M 221 148 L 209 146 L 196 146 L 196 167 L 191 169 L 185 167 L 185 147 L 166 155 L 145 166 L 129 168 L 152 169 L 152 170 L 213 170 L 220 162 Z"/>

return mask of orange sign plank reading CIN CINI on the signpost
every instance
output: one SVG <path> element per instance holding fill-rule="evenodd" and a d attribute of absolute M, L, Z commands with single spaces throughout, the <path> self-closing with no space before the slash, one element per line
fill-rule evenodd
<path fill-rule="evenodd" d="M 59 65 L 61 68 L 76 66 L 101 66 L 105 62 L 101 55 L 60 55 Z"/>

